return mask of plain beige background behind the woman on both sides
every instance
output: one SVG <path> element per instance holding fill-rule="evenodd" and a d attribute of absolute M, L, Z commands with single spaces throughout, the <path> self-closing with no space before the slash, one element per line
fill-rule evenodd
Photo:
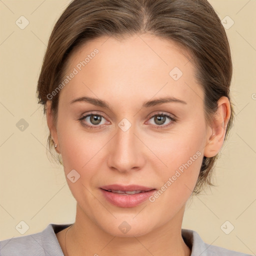
<path fill-rule="evenodd" d="M 0 240 L 21 236 L 15 228 L 20 221 L 29 226 L 27 235 L 75 218 L 75 200 L 62 166 L 46 156 L 48 130 L 35 97 L 48 37 L 68 2 L 0 1 Z M 256 1 L 210 3 L 220 19 L 228 15 L 234 21 L 226 32 L 236 121 L 217 162 L 217 186 L 190 201 L 183 227 L 196 230 L 207 243 L 255 255 Z M 29 21 L 24 29 L 15 24 L 21 15 Z M 23 131 L 16 127 L 21 118 L 28 123 Z M 234 226 L 229 234 L 220 228 L 226 220 Z M 231 224 L 224 225 L 226 230 Z"/>

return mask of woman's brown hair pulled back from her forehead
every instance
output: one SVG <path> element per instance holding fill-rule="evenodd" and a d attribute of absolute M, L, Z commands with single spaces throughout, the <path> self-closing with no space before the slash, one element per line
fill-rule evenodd
<path fill-rule="evenodd" d="M 73 0 L 51 32 L 38 78 L 36 92 L 44 113 L 47 95 L 60 84 L 73 50 L 96 37 L 118 39 L 135 33 L 172 40 L 191 53 L 195 77 L 204 91 L 207 121 L 212 119 L 221 96 L 230 100 L 229 43 L 219 17 L 207 0 Z M 56 93 L 51 99 L 55 123 L 58 97 Z M 234 115 L 232 104 L 230 107 L 225 139 Z M 47 142 L 51 150 L 54 145 L 50 134 Z M 205 184 L 212 185 L 211 174 L 217 157 L 203 157 L 193 194 L 198 194 Z"/>

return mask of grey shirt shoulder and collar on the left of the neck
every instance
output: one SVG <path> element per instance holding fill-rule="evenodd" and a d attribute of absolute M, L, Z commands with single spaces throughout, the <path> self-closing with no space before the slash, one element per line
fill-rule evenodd
<path fill-rule="evenodd" d="M 12 237 L 0 241 L 1 256 L 63 256 L 56 238 L 58 232 L 69 224 L 48 224 L 41 232 Z"/>

